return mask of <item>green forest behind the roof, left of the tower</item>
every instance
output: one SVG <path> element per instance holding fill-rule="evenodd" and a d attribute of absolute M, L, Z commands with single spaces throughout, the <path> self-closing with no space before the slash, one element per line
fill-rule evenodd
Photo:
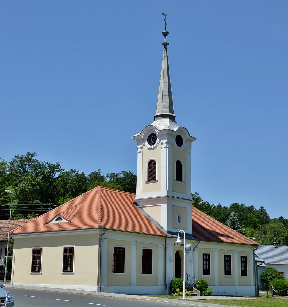
<path fill-rule="evenodd" d="M 0 158 L 0 219 L 9 219 L 13 192 L 13 219 L 43 214 L 97 187 L 136 192 L 136 175 L 130 171 L 102 174 L 95 170 L 87 176 L 77 169 L 64 170 L 59 162 L 39 161 L 36 153 L 16 155 L 12 161 Z"/>

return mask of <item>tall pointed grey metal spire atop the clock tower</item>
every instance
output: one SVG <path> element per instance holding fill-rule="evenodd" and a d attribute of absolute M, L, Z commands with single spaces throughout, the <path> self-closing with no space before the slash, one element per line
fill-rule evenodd
<path fill-rule="evenodd" d="M 154 119 L 156 120 L 159 118 L 169 118 L 175 120 L 168 55 L 167 55 L 167 45 L 169 45 L 169 43 L 166 42 L 166 37 L 169 34 L 169 32 L 166 30 L 166 27 L 165 30 L 162 32 L 162 34 L 164 36 L 164 43 L 162 43 L 162 45 L 164 46 L 164 50 L 162 56 L 158 99 L 157 99 L 156 113 Z"/>

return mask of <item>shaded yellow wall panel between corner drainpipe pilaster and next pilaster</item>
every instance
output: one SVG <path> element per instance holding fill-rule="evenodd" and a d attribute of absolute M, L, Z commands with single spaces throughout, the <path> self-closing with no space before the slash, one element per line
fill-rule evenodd
<path fill-rule="evenodd" d="M 114 246 L 125 247 L 125 273 L 113 273 Z M 108 240 L 107 249 L 107 286 L 131 285 L 131 241 Z"/>

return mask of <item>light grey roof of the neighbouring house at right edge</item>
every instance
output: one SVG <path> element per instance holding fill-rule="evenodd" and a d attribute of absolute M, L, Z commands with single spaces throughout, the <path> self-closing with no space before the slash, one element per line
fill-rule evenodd
<path fill-rule="evenodd" d="M 288 265 L 288 246 L 260 245 L 255 251 L 255 260 L 260 261 L 256 256 L 266 264 Z"/>

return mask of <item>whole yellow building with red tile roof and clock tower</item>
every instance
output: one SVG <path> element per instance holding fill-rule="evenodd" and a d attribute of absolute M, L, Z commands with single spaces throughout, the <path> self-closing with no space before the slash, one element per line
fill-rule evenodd
<path fill-rule="evenodd" d="M 96 187 L 12 231 L 13 284 L 165 294 L 171 279 L 182 277 L 190 284 L 205 279 L 213 294 L 257 295 L 259 243 L 192 207 L 196 138 L 175 121 L 167 34 L 154 122 L 132 137 L 136 194 Z M 113 136 L 115 153 L 121 130 Z M 191 244 L 185 275 L 184 244 L 175 242 L 180 230 Z"/>

